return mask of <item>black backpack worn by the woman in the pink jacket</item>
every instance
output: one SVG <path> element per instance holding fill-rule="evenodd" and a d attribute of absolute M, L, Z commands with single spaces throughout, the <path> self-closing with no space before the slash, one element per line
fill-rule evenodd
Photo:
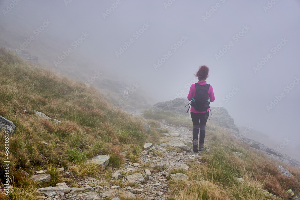
<path fill-rule="evenodd" d="M 196 92 L 195 92 L 194 98 L 192 99 L 192 101 L 190 103 L 190 106 L 193 106 L 196 111 L 199 111 L 199 112 L 207 111 L 207 109 L 209 108 L 210 102 L 207 101 L 209 87 L 210 87 L 209 84 L 199 85 L 198 83 L 195 83 Z M 188 112 L 188 110 L 187 110 L 187 112 Z"/>

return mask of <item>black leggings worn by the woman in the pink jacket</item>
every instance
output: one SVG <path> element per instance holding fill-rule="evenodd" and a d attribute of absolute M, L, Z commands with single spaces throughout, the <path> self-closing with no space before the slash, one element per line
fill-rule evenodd
<path fill-rule="evenodd" d="M 193 121 L 193 140 L 198 140 L 198 133 L 199 133 L 199 143 L 204 143 L 205 138 L 205 126 L 209 116 L 209 111 L 205 113 L 195 113 L 190 112 L 190 116 L 192 117 Z"/>

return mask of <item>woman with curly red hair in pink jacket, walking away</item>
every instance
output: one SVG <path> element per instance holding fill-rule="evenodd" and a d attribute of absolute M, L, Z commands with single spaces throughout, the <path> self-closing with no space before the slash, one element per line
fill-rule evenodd
<path fill-rule="evenodd" d="M 190 86 L 190 92 L 187 95 L 187 99 L 191 101 L 196 94 L 196 86 L 197 85 L 198 91 L 202 89 L 208 88 L 209 85 L 206 85 L 206 78 L 208 77 L 208 71 L 209 68 L 206 67 L 205 65 L 202 65 L 199 67 L 199 70 L 195 74 L 196 77 L 198 77 L 198 83 L 194 83 Z M 205 86 L 206 85 L 206 86 Z M 206 92 L 204 92 L 206 93 Z M 207 94 L 206 94 L 207 97 Z M 214 97 L 214 91 L 212 89 L 212 86 L 210 85 L 208 88 L 208 100 L 210 102 L 214 102 L 215 97 Z M 206 109 L 206 108 L 205 108 Z M 197 110 L 201 110 L 197 108 Z M 210 108 L 208 107 L 207 110 L 204 111 L 197 111 L 193 106 L 191 106 L 190 109 L 190 116 L 192 117 L 193 121 L 193 151 L 194 152 L 199 152 L 203 150 L 203 145 L 204 145 L 204 137 L 205 137 L 205 126 L 206 122 L 209 116 L 209 110 Z M 202 109 L 203 110 L 203 109 Z M 200 129 L 200 133 L 199 133 Z M 198 149 L 198 134 L 199 134 L 199 149 Z"/>

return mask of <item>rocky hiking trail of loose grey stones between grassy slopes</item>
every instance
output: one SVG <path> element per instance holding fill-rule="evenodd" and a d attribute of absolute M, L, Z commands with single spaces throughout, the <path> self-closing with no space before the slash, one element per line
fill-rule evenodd
<path fill-rule="evenodd" d="M 141 163 L 126 161 L 122 169 L 112 169 L 114 173 L 110 181 L 112 182 L 119 179 L 124 182 L 124 185 L 128 186 L 119 187 L 109 182 L 104 186 L 103 181 L 89 177 L 78 179 L 78 182 L 73 183 L 81 187 L 71 187 L 69 186 L 70 184 L 58 183 L 56 187 L 38 189 L 38 192 L 41 194 L 39 198 L 47 200 L 89 200 L 104 198 L 117 200 L 119 197 L 124 199 L 163 200 L 170 198 L 171 190 L 167 184 L 167 177 L 170 176 L 170 178 L 173 179 L 185 180 L 188 178 L 187 175 L 184 174 L 170 174 L 170 171 L 176 168 L 188 169 L 190 160 L 200 157 L 201 153 L 194 153 L 190 146 L 185 145 L 188 143 L 191 144 L 192 141 L 192 134 L 188 128 L 176 128 L 166 124 L 164 121 L 161 122 L 161 125 L 162 128 L 169 130 L 169 134 L 165 133 L 162 140 L 170 140 L 169 142 L 162 143 L 161 145 L 146 143 L 146 150 L 143 150 L 140 159 Z M 175 149 L 167 151 L 167 146 L 176 146 L 182 149 L 182 152 L 176 151 Z M 161 151 L 164 155 L 159 156 L 153 153 L 153 151 Z M 200 163 L 200 160 L 198 160 L 198 162 Z M 136 171 L 136 173 L 134 173 L 134 171 Z M 125 172 L 131 175 L 122 176 Z M 71 175 L 68 168 L 63 173 Z M 128 184 L 128 182 L 134 184 Z"/>

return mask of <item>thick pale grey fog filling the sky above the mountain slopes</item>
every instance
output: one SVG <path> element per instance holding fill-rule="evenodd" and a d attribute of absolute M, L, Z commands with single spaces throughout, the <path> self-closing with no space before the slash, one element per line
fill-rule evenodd
<path fill-rule="evenodd" d="M 0 8 L 6 31 L 18 31 L 13 49 L 31 35 L 59 41 L 40 58 L 54 70 L 84 58 L 82 73 L 130 79 L 159 102 L 186 98 L 206 65 L 211 106 L 278 145 L 299 144 L 300 1 L 12 0 Z"/>

